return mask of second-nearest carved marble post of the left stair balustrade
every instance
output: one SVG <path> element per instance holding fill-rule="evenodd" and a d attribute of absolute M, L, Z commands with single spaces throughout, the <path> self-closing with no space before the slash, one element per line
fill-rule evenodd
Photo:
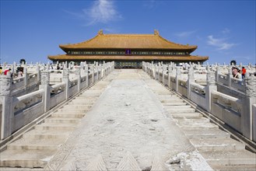
<path fill-rule="evenodd" d="M 44 113 L 50 110 L 50 91 L 51 87 L 49 86 L 50 83 L 50 72 L 49 70 L 44 70 L 41 72 L 41 84 L 39 89 L 44 89 Z"/>

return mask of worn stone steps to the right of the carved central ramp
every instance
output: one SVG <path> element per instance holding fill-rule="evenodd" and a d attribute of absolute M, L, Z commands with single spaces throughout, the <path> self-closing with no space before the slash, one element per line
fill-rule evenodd
<path fill-rule="evenodd" d="M 170 90 L 160 89 L 160 84 L 149 80 L 149 87 L 159 97 L 167 110 L 167 117 L 174 118 L 191 144 L 197 148 L 202 157 L 216 170 L 256 170 L 256 154 L 245 149 L 245 145 L 230 134 L 219 129 L 208 118 L 203 117 L 192 106 L 167 103 L 167 99 L 177 96 Z M 177 96 L 183 103 L 187 101 Z M 174 103 L 174 104 L 172 104 Z M 188 109 L 190 109 L 188 111 Z M 181 112 L 182 111 L 182 112 Z"/>

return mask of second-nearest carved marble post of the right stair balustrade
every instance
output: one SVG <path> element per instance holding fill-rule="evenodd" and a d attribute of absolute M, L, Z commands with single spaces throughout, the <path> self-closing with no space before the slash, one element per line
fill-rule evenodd
<path fill-rule="evenodd" d="M 206 110 L 211 112 L 211 97 L 212 91 L 217 90 L 216 80 L 215 80 L 215 73 L 210 71 L 209 65 L 207 65 L 207 73 L 206 73 L 206 82 L 207 85 L 205 86 L 205 100 L 206 100 Z"/>

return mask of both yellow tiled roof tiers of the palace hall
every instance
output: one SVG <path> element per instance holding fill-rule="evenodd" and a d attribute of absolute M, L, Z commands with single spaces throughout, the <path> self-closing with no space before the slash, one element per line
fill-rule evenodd
<path fill-rule="evenodd" d="M 160 36 L 157 30 L 154 34 L 103 34 L 100 30 L 96 37 L 78 44 L 59 45 L 67 54 L 48 56 L 53 61 L 77 61 L 77 60 L 114 60 L 114 61 L 206 61 L 209 57 L 191 56 L 191 52 L 197 49 L 195 45 L 176 44 Z M 138 54 L 74 54 L 75 51 L 176 51 L 184 54 L 174 55 L 138 55 Z"/>

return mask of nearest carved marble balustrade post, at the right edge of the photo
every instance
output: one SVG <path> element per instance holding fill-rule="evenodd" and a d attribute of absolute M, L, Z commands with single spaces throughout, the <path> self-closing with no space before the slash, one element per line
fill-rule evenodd
<path fill-rule="evenodd" d="M 245 96 L 242 98 L 242 113 L 241 113 L 241 130 L 245 137 L 253 138 L 253 119 L 256 117 L 256 113 L 253 113 L 252 105 L 256 104 L 256 77 L 245 73 Z M 254 115 L 254 116 L 253 116 Z M 255 120 L 255 119 L 254 119 Z M 255 133 L 254 133 L 255 134 Z"/>

